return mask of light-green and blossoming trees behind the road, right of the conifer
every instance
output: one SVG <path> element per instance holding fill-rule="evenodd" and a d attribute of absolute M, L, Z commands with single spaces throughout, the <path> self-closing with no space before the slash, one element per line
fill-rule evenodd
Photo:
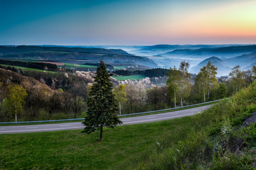
<path fill-rule="evenodd" d="M 256 67 L 242 71 L 231 69 L 228 77 L 216 77 L 218 68 L 208 62 L 196 77 L 188 72 L 189 63 L 167 72 L 166 86 L 146 89 L 145 84 L 120 84 L 114 88 L 115 98 L 122 106 L 122 114 L 185 106 L 229 97 L 256 79 Z"/>

